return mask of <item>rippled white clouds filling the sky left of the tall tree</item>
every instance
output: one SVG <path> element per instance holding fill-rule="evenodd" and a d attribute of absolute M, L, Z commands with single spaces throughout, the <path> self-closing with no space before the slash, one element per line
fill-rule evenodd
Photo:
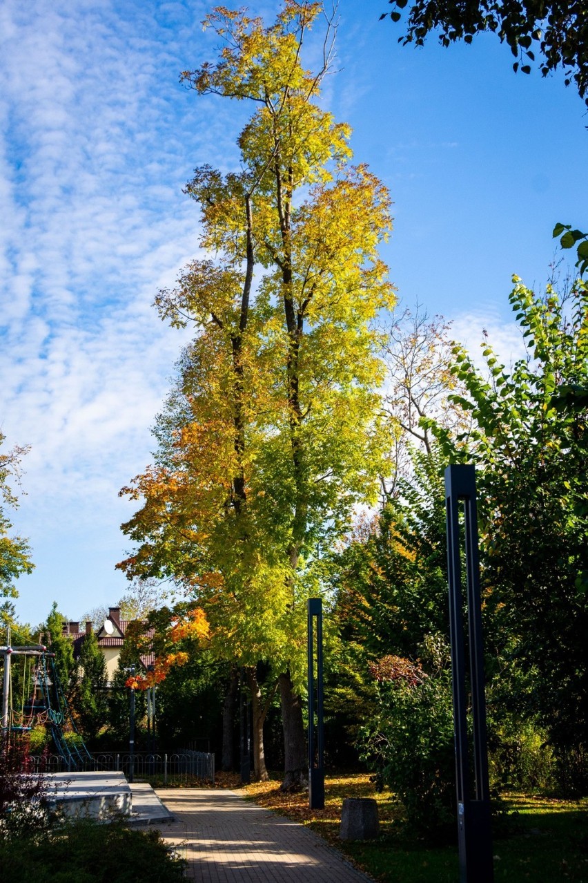
<path fill-rule="evenodd" d="M 117 493 L 149 462 L 187 337 L 151 303 L 197 252 L 182 185 L 228 127 L 218 117 L 195 139 L 196 96 L 177 75 L 201 16 L 170 11 L 182 44 L 139 4 L 8 0 L 0 12 L 0 426 L 7 444 L 32 446 L 13 520 L 37 562 L 19 585 L 33 622 L 53 597 L 75 615 L 85 593 L 122 593 L 130 504 Z"/>

